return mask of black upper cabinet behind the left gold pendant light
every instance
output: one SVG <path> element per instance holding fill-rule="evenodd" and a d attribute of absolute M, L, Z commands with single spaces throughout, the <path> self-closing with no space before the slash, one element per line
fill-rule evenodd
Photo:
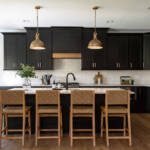
<path fill-rule="evenodd" d="M 35 67 L 36 70 L 50 70 L 53 68 L 51 49 L 50 28 L 39 28 L 40 39 L 44 42 L 45 50 L 31 50 L 30 43 L 35 38 L 36 28 L 26 28 L 27 30 L 27 63 Z"/>

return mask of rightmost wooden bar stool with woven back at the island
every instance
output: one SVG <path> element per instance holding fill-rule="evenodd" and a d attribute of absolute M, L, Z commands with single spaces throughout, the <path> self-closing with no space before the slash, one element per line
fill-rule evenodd
<path fill-rule="evenodd" d="M 122 117 L 123 129 L 109 129 L 109 117 Z M 127 119 L 126 119 L 127 118 Z M 105 129 L 103 127 L 105 119 Z M 126 125 L 127 122 L 127 125 Z M 101 107 L 101 136 L 106 132 L 106 143 L 109 146 L 110 139 L 128 139 L 131 146 L 131 119 L 130 119 L 130 92 L 128 90 L 106 91 L 105 106 Z M 110 136 L 109 132 L 123 132 L 123 136 Z"/>

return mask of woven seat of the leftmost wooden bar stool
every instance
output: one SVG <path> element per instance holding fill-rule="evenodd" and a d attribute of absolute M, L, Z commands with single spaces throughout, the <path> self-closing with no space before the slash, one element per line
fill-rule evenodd
<path fill-rule="evenodd" d="M 25 107 L 25 111 L 26 113 L 28 111 L 30 111 L 30 107 L 29 106 L 26 106 Z M 6 113 L 6 114 L 22 114 L 23 113 L 23 109 L 21 106 L 6 106 L 5 108 L 3 108 L 3 113 Z"/>

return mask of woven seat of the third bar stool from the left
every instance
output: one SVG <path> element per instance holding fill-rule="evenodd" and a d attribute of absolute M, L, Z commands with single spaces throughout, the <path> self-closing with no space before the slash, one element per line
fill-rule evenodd
<path fill-rule="evenodd" d="M 93 107 L 92 106 L 73 106 L 74 114 L 92 114 Z"/>

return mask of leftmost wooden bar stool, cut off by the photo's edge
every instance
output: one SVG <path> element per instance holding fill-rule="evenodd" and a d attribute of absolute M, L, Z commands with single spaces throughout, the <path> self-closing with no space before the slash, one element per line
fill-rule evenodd
<path fill-rule="evenodd" d="M 31 134 L 31 119 L 30 119 L 30 107 L 25 105 L 25 93 L 21 90 L 3 90 L 0 91 L 0 105 L 2 113 L 1 125 L 1 139 L 22 139 L 22 145 L 24 146 L 25 132 L 28 131 Z M 22 129 L 8 129 L 8 118 L 21 117 Z M 26 127 L 26 118 L 28 119 Z M 4 121 L 4 123 L 3 123 Z M 8 135 L 8 132 L 22 132 L 21 136 Z"/>

